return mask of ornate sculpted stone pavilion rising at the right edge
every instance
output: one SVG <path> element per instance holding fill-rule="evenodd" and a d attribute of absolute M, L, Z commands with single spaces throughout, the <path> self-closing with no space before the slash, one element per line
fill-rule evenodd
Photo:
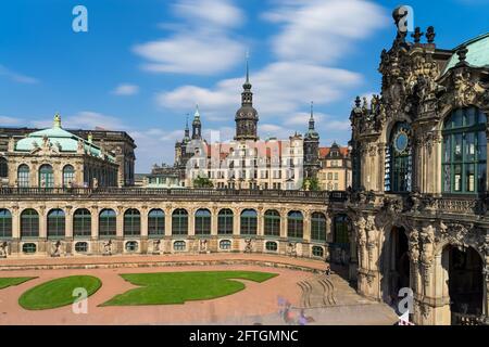
<path fill-rule="evenodd" d="M 454 50 L 423 36 L 398 33 L 381 95 L 351 113 L 350 273 L 378 300 L 411 287 L 418 324 L 488 323 L 489 35 Z"/>

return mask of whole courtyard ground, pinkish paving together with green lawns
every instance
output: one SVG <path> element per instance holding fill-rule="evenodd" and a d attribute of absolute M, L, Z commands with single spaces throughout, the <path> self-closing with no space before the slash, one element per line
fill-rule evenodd
<path fill-rule="evenodd" d="M 301 311 L 308 324 L 397 321 L 388 306 L 359 296 L 339 274 L 325 279 L 322 261 L 265 255 L 99 257 L 89 264 L 85 259 L 87 265 L 80 260 L 2 261 L 0 278 L 18 280 L 0 292 L 0 324 L 293 324 Z M 66 278 L 89 278 L 96 287 L 100 281 L 89 291 L 87 313 L 74 313 L 71 304 L 39 309 L 30 301 L 34 307 L 23 307 L 26 293 Z M 141 294 L 145 288 L 149 295 Z M 49 298 L 42 292 L 38 297 L 49 301 L 55 295 L 49 291 Z M 289 322 L 278 313 L 280 301 L 290 305 Z"/>

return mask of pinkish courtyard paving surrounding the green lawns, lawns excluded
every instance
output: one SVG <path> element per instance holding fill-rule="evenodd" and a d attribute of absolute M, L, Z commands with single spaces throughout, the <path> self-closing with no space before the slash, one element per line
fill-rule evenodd
<path fill-rule="evenodd" d="M 88 266 L 85 265 L 87 262 Z M 161 262 L 163 265 L 159 266 Z M 291 304 L 291 313 L 297 320 L 304 295 L 298 283 L 322 279 L 317 273 L 303 270 L 324 269 L 324 262 L 316 260 L 242 254 L 0 261 L 4 268 L 5 264 L 10 270 L 0 271 L 0 277 L 38 278 L 0 291 L 0 324 L 285 324 L 278 313 L 278 297 Z M 38 266 L 46 269 L 36 270 Z M 18 270 L 23 267 L 28 269 Z M 184 305 L 99 307 L 114 295 L 134 287 L 120 277 L 121 273 L 200 270 L 267 271 L 279 275 L 263 283 L 243 281 L 246 290 L 211 300 Z M 18 297 L 26 290 L 72 274 L 91 274 L 102 281 L 102 287 L 88 299 L 88 314 L 75 314 L 71 306 L 42 311 L 27 311 L 18 306 Z M 326 295 L 334 297 L 335 303 L 327 307 L 305 308 L 310 324 L 392 324 L 396 321 L 392 310 L 364 300 L 340 277 L 334 274 L 328 281 L 331 292 Z M 314 295 L 324 293 L 313 291 Z"/>

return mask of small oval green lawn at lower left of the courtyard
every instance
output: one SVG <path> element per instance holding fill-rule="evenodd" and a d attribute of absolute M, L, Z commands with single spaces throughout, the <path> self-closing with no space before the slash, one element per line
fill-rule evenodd
<path fill-rule="evenodd" d="M 91 275 L 71 275 L 41 283 L 18 298 L 18 304 L 27 310 L 46 310 L 71 305 L 77 297 L 73 296 L 75 288 L 82 287 L 88 296 L 96 293 L 102 282 Z"/>

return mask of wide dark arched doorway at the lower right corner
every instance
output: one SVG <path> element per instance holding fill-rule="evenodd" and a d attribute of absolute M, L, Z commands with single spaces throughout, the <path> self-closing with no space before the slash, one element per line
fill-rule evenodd
<path fill-rule="evenodd" d="M 452 325 L 476 323 L 484 313 L 482 259 L 472 247 L 447 246 L 441 262 L 446 271 L 446 291 L 450 297 Z"/>

